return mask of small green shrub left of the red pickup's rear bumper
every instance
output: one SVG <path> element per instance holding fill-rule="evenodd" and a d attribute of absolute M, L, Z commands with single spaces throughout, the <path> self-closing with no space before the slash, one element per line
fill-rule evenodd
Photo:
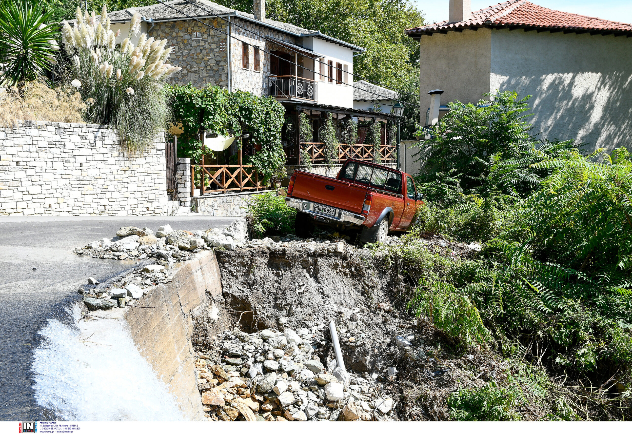
<path fill-rule="evenodd" d="M 267 191 L 252 198 L 248 219 L 257 236 L 294 233 L 296 209 L 285 204 L 285 196 Z"/>

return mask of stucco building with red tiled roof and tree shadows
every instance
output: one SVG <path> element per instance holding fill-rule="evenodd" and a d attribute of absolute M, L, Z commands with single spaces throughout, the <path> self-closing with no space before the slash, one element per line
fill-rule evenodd
<path fill-rule="evenodd" d="M 510 0 L 471 12 L 451 0 L 449 20 L 406 30 L 420 40 L 420 114 L 483 93 L 533 95 L 533 133 L 593 150 L 632 146 L 632 25 Z M 424 124 L 425 119 L 420 119 Z"/>

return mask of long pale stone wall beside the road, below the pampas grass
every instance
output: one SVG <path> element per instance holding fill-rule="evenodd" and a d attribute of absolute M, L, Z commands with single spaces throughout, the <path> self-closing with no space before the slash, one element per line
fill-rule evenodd
<path fill-rule="evenodd" d="M 0 128 L 0 215 L 164 214 L 166 207 L 162 135 L 130 156 L 104 125 Z"/>

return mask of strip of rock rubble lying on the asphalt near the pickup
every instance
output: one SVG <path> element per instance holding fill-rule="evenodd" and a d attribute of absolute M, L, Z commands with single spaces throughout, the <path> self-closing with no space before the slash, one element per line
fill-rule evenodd
<path fill-rule="evenodd" d="M 77 255 L 93 258 L 116 260 L 143 260 L 155 258 L 163 266 L 175 262 L 185 262 L 191 253 L 202 249 L 221 247 L 232 250 L 244 247 L 248 240 L 248 228 L 243 219 L 235 220 L 224 229 L 214 228 L 207 231 L 174 231 L 168 224 L 155 232 L 149 227 L 121 227 L 112 239 L 103 238 L 88 246 L 73 250 Z"/>

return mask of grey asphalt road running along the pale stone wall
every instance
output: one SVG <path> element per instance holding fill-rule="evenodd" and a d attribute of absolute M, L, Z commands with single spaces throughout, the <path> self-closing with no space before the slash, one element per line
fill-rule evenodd
<path fill-rule="evenodd" d="M 121 226 L 158 226 L 189 231 L 228 226 L 230 217 L 0 217 L 0 421 L 42 420 L 33 399 L 30 366 L 38 330 L 49 318 L 64 319 L 88 277 L 104 281 L 133 261 L 102 260 L 70 251 Z M 33 270 L 33 268 L 35 268 Z"/>

